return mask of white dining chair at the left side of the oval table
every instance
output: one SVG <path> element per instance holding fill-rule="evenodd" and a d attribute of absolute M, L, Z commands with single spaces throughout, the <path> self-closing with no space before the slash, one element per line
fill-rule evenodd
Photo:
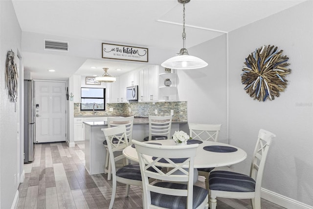
<path fill-rule="evenodd" d="M 128 160 L 122 154 L 122 150 L 129 145 L 125 125 L 119 125 L 111 128 L 101 128 L 103 131 L 110 154 L 110 162 L 112 166 L 112 197 L 109 209 L 112 209 L 115 193 L 116 182 L 126 184 L 126 197 L 129 195 L 130 185 L 142 187 L 140 167 L 138 164 L 128 164 Z M 117 143 L 112 143 L 117 140 Z M 127 165 L 116 167 L 116 162 L 126 159 Z"/>

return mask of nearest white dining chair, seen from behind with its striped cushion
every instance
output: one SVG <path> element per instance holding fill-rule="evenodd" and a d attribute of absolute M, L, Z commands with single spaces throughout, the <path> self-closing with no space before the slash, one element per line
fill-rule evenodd
<path fill-rule="evenodd" d="M 144 209 L 208 208 L 208 191 L 193 185 L 198 144 L 161 146 L 135 140 L 133 143 L 141 170 Z M 157 166 L 171 169 L 160 169 Z M 151 168 L 156 172 L 150 171 Z M 176 171 L 179 174 L 175 174 Z M 156 183 L 149 183 L 148 178 L 156 179 Z"/>

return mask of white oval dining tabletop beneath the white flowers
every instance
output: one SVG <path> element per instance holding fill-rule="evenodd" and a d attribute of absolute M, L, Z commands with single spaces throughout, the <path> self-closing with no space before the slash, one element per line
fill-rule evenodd
<path fill-rule="evenodd" d="M 206 168 L 206 167 L 223 167 L 233 164 L 240 163 L 244 161 L 247 157 L 246 152 L 237 147 L 219 142 L 202 141 L 197 148 L 197 156 L 195 157 L 194 167 L 195 168 Z M 145 143 L 158 143 L 159 146 L 173 146 L 176 145 L 175 141 L 172 139 L 166 140 L 153 140 Z M 179 146 L 179 145 L 178 145 Z M 182 145 L 188 146 L 188 145 Z M 231 152 L 216 152 L 204 150 L 205 146 L 221 146 L 222 148 L 230 147 Z M 233 148 L 231 148 L 233 147 Z M 234 151 L 235 150 L 235 151 Z M 123 154 L 126 158 L 134 161 L 138 161 L 138 155 L 134 146 L 127 146 L 123 150 Z"/>

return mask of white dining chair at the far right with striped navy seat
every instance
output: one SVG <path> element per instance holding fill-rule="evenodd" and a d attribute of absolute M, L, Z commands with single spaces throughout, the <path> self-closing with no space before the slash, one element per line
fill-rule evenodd
<path fill-rule="evenodd" d="M 253 209 L 261 209 L 261 184 L 268 148 L 275 134 L 260 129 L 250 175 L 230 171 L 212 171 L 209 176 L 210 209 L 216 209 L 216 197 L 251 199 Z"/>

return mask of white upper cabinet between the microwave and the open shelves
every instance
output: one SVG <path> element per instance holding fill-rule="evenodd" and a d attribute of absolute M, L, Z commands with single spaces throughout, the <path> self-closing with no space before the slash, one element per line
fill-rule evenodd
<path fill-rule="evenodd" d="M 158 101 L 158 66 L 148 65 L 139 69 L 138 102 Z"/>

